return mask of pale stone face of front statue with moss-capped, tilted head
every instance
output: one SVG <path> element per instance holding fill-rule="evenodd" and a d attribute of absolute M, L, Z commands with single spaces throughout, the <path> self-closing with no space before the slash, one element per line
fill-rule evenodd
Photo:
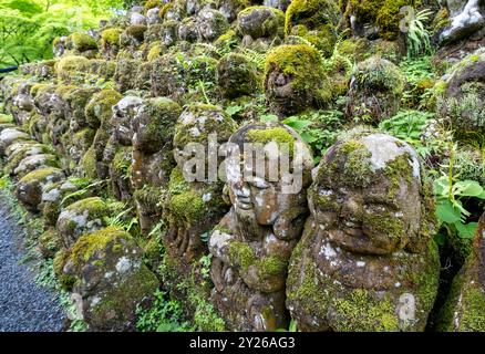
<path fill-rule="evenodd" d="M 256 132 L 256 134 L 254 134 L 254 132 Z M 267 133 L 267 135 L 265 135 L 265 133 Z M 269 166 L 268 158 L 266 158 L 265 174 L 264 176 L 257 176 L 254 167 L 255 159 L 251 162 L 251 158 L 242 154 L 245 143 L 255 142 L 258 136 L 267 136 L 269 137 L 267 142 L 261 140 L 266 148 L 268 146 L 266 143 L 270 143 L 271 138 L 278 135 L 286 136 L 286 138 L 291 142 L 302 143 L 297 133 L 282 124 L 252 124 L 245 126 L 236 132 L 229 139 L 229 143 L 235 144 L 234 146 L 239 146 L 239 152 L 241 153 L 240 160 L 226 160 L 229 198 L 234 206 L 236 217 L 242 222 L 252 222 L 255 229 L 257 229 L 256 225 L 260 227 L 272 226 L 285 211 L 306 205 L 303 188 L 308 185 L 308 176 L 312 167 L 312 157 L 308 148 L 301 152 L 303 155 L 302 190 L 296 194 L 283 192 L 283 185 L 291 181 L 292 177 L 290 174 L 279 171 L 277 173 L 277 180 L 272 180 L 274 178 L 270 178 L 269 174 L 271 167 Z M 274 156 L 278 156 L 278 153 Z M 292 166 L 291 163 L 292 160 L 290 158 L 290 167 Z M 240 173 L 237 173 L 239 166 Z M 250 177 L 248 174 L 245 174 L 245 171 L 254 176 Z M 249 225 L 241 226 L 249 227 Z"/>

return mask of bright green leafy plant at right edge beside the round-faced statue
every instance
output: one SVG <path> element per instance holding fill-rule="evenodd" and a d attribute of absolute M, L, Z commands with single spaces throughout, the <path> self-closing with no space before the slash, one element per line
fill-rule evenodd
<path fill-rule="evenodd" d="M 475 180 L 460 180 L 460 175 L 454 175 L 454 154 L 456 146 L 450 152 L 448 174 L 437 178 L 434 184 L 436 197 L 436 217 L 442 222 L 448 237 L 457 235 L 463 239 L 471 239 L 475 235 L 477 222 L 467 222 L 471 212 L 463 206 L 463 199 L 485 199 L 484 188 Z"/>

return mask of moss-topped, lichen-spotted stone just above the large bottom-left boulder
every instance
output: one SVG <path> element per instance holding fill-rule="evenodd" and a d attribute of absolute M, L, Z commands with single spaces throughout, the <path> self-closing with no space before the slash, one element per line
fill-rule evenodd
<path fill-rule="evenodd" d="M 110 215 L 110 208 L 99 197 L 82 199 L 62 209 L 55 227 L 63 246 L 70 248 L 81 235 L 104 227 L 103 217 L 107 215 Z"/>

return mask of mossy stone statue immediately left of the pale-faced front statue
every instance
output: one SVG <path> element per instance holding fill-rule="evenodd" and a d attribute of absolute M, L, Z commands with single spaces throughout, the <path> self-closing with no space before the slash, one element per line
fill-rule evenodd
<path fill-rule="evenodd" d="M 206 168 L 209 165 L 210 148 L 215 148 L 216 168 L 217 147 L 227 143 L 236 131 L 236 123 L 223 108 L 207 104 L 193 104 L 179 116 L 175 127 L 174 157 L 177 166 L 171 175 L 168 197 L 164 206 L 164 219 L 167 225 L 164 238 L 167 256 L 177 263 L 177 272 L 190 274 L 190 267 L 202 256 L 207 254 L 207 246 L 202 235 L 211 230 L 228 207 L 223 199 L 224 185 L 217 176 L 209 178 Z M 197 150 L 190 149 L 197 144 Z M 205 158 L 198 155 L 205 154 Z M 197 158 L 197 165 L 192 162 Z M 197 173 L 200 178 L 187 180 Z M 188 178 L 187 177 L 187 178 Z"/>

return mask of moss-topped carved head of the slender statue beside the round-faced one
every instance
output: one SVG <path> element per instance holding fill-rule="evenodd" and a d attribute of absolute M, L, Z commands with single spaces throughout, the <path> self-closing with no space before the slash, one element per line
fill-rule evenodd
<path fill-rule="evenodd" d="M 247 125 L 229 143 L 233 145 L 226 165 L 227 186 L 241 231 L 247 237 L 259 238 L 258 230 L 272 226 L 281 239 L 297 237 L 301 228 L 292 230 L 288 223 L 306 209 L 305 188 L 313 167 L 308 147 L 295 131 L 277 123 Z M 256 155 L 248 153 L 249 146 L 255 154 L 266 155 L 260 155 L 262 159 L 255 158 Z M 236 147 L 239 155 L 234 154 Z M 257 164 L 262 166 L 259 171 Z M 300 184 L 300 190 L 289 190 L 293 183 Z"/>

